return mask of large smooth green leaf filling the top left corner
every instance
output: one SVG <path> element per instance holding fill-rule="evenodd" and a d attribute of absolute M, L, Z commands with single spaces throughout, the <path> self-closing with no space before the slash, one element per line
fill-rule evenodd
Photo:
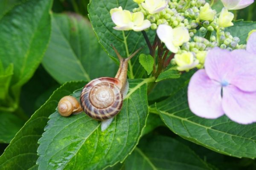
<path fill-rule="evenodd" d="M 51 6 L 51 0 L 25 0 L 0 17 L 0 60 L 3 68 L 14 65 L 11 85 L 16 100 L 47 48 Z"/>

